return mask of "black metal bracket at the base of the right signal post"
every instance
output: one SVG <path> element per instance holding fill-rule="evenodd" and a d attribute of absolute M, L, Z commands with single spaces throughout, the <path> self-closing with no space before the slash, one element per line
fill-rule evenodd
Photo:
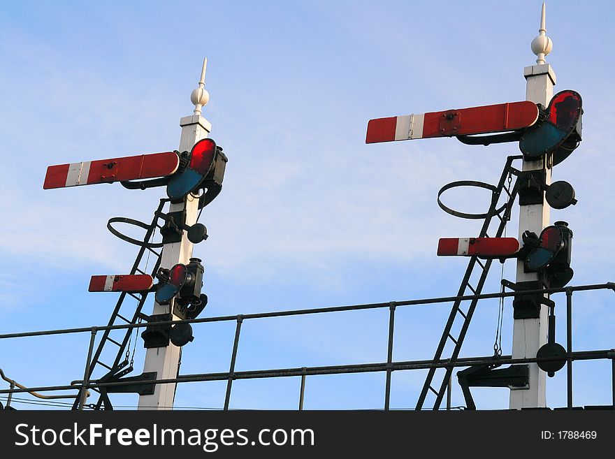
<path fill-rule="evenodd" d="M 466 409 L 476 409 L 470 387 L 507 387 L 511 390 L 530 388 L 529 365 L 510 365 L 507 368 L 494 370 L 500 364 L 473 365 L 465 370 L 457 372 L 457 379 Z"/>

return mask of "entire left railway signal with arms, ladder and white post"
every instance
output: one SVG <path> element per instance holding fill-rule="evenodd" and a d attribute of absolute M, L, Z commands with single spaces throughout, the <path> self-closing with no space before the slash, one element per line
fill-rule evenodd
<path fill-rule="evenodd" d="M 182 133 L 179 150 L 58 164 L 49 166 L 45 175 L 44 189 L 120 182 L 126 189 L 166 187 L 168 196 L 168 199 L 161 199 L 158 210 L 154 212 L 154 220 L 149 226 L 125 217 L 114 217 L 108 221 L 107 228 L 111 233 L 140 246 L 141 249 L 129 274 L 94 275 L 89 291 L 121 293 L 111 314 L 110 326 L 115 324 L 116 319 L 130 324 L 145 319 L 150 322 L 150 326 L 141 333 L 147 349 L 143 374 L 124 379 L 126 386 L 123 388 L 103 389 L 94 409 L 103 406 L 105 409 L 111 409 L 108 393 L 113 392 L 138 393 L 139 409 L 173 409 L 176 384 L 152 384 L 150 387 L 130 384 L 131 381 L 177 377 L 181 347 L 191 342 L 194 337 L 189 323 L 176 323 L 171 326 L 169 322 L 194 319 L 207 305 L 208 298 L 201 293 L 204 268 L 201 260 L 192 257 L 192 250 L 194 244 L 208 237 L 207 228 L 197 223 L 197 220 L 203 207 L 222 190 L 227 159 L 222 153 L 222 147 L 208 138 L 211 124 L 201 116 L 203 105 L 209 101 L 209 94 L 205 90 L 206 66 L 207 58 L 203 61 L 201 81 L 190 96 L 195 105 L 194 114 L 180 119 Z M 167 202 L 168 212 L 164 214 L 162 209 Z M 164 220 L 164 226 L 159 225 L 159 219 Z M 113 228 L 112 223 L 136 225 L 147 231 L 143 241 L 139 241 L 120 233 Z M 162 242 L 154 243 L 150 239 L 157 228 L 160 228 Z M 157 252 L 153 247 L 162 247 L 162 250 Z M 146 249 L 157 256 L 151 274 L 139 268 Z M 154 284 L 154 277 L 159 280 L 157 284 Z M 147 293 L 151 291 L 156 292 L 154 312 L 147 316 L 141 313 L 141 308 L 145 304 Z M 123 309 L 121 311 L 124 315 L 131 315 L 133 319 L 127 319 L 120 312 L 126 294 L 138 301 L 133 312 L 125 312 Z M 160 322 L 165 324 L 159 325 Z M 108 370 L 99 378 L 100 381 L 119 381 L 133 370 L 133 360 L 129 360 L 126 351 L 131 330 L 126 332 L 123 340 L 117 336 L 115 338 L 114 340 L 110 337 L 109 330 L 103 334 L 92 356 L 91 365 L 88 366 L 86 379 L 92 377 L 99 367 Z M 101 360 L 105 344 L 119 347 L 113 362 L 107 360 L 107 354 L 103 360 L 108 363 Z M 78 408 L 78 405 L 75 405 L 75 408 Z"/>

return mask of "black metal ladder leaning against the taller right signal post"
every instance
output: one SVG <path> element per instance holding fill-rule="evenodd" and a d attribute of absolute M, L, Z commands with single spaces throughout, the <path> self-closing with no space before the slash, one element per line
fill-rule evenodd
<path fill-rule="evenodd" d="M 484 223 L 482 229 L 480 231 L 479 238 L 489 238 L 489 228 L 491 226 L 491 221 L 493 217 L 498 217 L 499 224 L 495 231 L 495 238 L 500 238 L 504 233 L 505 226 L 507 221 L 510 219 L 510 212 L 512 210 L 512 205 L 514 204 L 514 200 L 517 195 L 517 187 L 506 184 L 507 177 L 512 177 L 512 175 L 518 172 L 516 169 L 512 167 L 512 161 L 515 159 L 521 159 L 521 156 L 508 156 L 506 165 L 504 170 L 502 170 L 502 176 L 500 177 L 500 182 L 498 182 L 498 186 L 493 190 L 493 194 L 491 196 L 491 207 L 489 207 L 489 211 L 486 212 L 486 217 L 484 219 Z M 503 205 L 498 212 L 498 202 L 500 201 L 500 196 L 502 196 L 502 191 L 505 191 L 507 194 L 507 202 Z M 461 286 L 459 287 L 457 296 L 472 296 L 472 295 L 480 295 L 482 292 L 484 283 L 486 281 L 487 275 L 489 274 L 489 268 L 491 268 L 491 263 L 493 260 L 485 260 L 481 261 L 476 256 L 472 256 L 468 263 L 468 268 L 465 270 L 465 275 L 463 275 L 463 280 L 461 281 Z M 470 278 L 472 274 L 474 274 L 475 270 L 478 270 L 480 273 L 478 282 L 476 286 L 470 285 Z M 468 301 L 468 300 L 466 300 Z M 472 319 L 472 314 L 474 314 L 476 305 L 478 303 L 478 299 L 469 300 L 470 306 L 468 309 L 463 312 L 461 309 L 462 300 L 455 300 L 453 307 L 451 309 L 451 313 L 449 314 L 449 319 L 447 321 L 446 326 L 444 326 L 444 331 L 442 332 L 442 337 L 440 338 L 440 343 L 437 346 L 437 350 L 435 351 L 435 356 L 433 357 L 434 361 L 447 361 L 449 363 L 453 363 L 459 355 L 459 351 L 461 351 L 461 345 L 463 344 L 463 340 L 465 338 L 465 333 L 468 331 L 468 327 L 470 326 L 470 320 Z M 458 335 L 453 336 L 451 330 L 455 323 L 461 321 L 461 329 L 458 332 Z M 444 356 L 444 347 L 451 342 L 454 344 L 454 349 L 449 356 Z M 440 370 L 437 372 L 437 370 Z M 444 374 L 442 381 L 440 382 L 440 387 L 435 388 L 437 386 L 437 382 L 435 382 L 435 374 Z M 448 366 L 446 368 L 435 368 L 432 367 L 429 369 L 427 377 L 425 379 L 423 388 L 421 389 L 421 394 L 419 395 L 419 400 L 417 402 L 417 406 L 415 409 L 423 409 L 425 399 L 427 397 L 428 392 L 433 392 L 436 396 L 435 402 L 433 404 L 433 410 L 440 409 L 440 405 L 442 403 L 442 399 L 447 391 L 447 386 L 449 384 L 449 380 L 451 379 L 451 374 L 453 372 L 453 367 Z"/>

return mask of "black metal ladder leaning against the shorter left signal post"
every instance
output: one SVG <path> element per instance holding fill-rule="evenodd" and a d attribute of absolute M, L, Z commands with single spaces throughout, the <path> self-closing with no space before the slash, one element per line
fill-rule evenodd
<path fill-rule="evenodd" d="M 143 228 L 147 228 L 145 235 L 143 236 L 143 242 L 140 243 L 140 249 L 136 256 L 136 259 L 133 263 L 132 269 L 130 270 L 130 274 L 150 274 L 155 279 L 155 275 L 160 268 L 160 261 L 162 255 L 162 249 L 159 252 L 152 248 L 152 244 L 148 241 L 152 238 L 154 231 L 156 228 L 161 228 L 158 224 L 158 220 L 161 219 L 161 212 L 165 205 L 165 203 L 169 201 L 168 199 L 161 199 L 160 204 L 156 212 L 154 212 L 154 218 L 152 219 L 152 223 L 150 226 L 143 224 Z M 145 272 L 146 267 L 141 269 L 141 264 L 143 262 L 143 258 L 145 254 L 154 255 L 154 265 L 150 272 Z M 149 255 L 148 254 L 148 255 Z M 149 258 L 146 258 L 149 261 Z M 120 293 L 120 298 L 117 299 L 117 303 L 115 304 L 115 308 L 113 309 L 113 313 L 110 316 L 108 326 L 116 326 L 116 325 L 127 325 L 127 324 L 135 324 L 137 323 L 141 309 L 143 305 L 145 305 L 145 301 L 147 300 L 148 291 L 138 292 L 138 293 Z M 126 300 L 134 300 L 135 303 L 128 302 Z M 126 303 L 126 304 L 124 304 Z M 99 342 L 96 351 L 94 352 L 94 356 L 89 363 L 89 373 L 88 378 L 91 378 L 94 372 L 97 370 L 104 369 L 106 371 L 103 376 L 97 378 L 97 381 L 103 382 L 110 378 L 120 378 L 125 374 L 128 374 L 133 370 L 132 361 L 129 360 L 129 343 L 131 342 L 131 335 L 133 333 L 133 328 L 126 328 L 124 333 L 123 340 L 114 339 L 110 336 L 112 330 L 104 330 L 101 341 Z M 116 332 L 119 330 L 115 330 Z M 136 338 L 135 338 L 136 339 Z M 117 348 L 117 354 L 115 356 L 115 360 L 113 363 L 103 362 L 101 360 L 101 355 L 104 349 L 109 349 L 109 347 Z M 96 402 L 92 402 L 89 405 L 94 409 L 101 409 L 104 405 L 104 409 L 113 409 L 110 400 L 106 391 L 101 391 L 99 388 L 92 388 L 92 391 L 99 394 L 99 398 Z M 73 404 L 73 409 L 78 409 L 79 398 L 75 399 L 75 403 Z"/>

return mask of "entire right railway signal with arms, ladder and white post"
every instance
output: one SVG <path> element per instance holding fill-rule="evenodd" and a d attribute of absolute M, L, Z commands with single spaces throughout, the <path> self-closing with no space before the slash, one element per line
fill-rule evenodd
<path fill-rule="evenodd" d="M 509 156 L 504 173 L 508 173 L 509 177 L 514 174 L 516 182 L 514 189 L 506 189 L 509 198 L 500 208 L 497 207 L 498 198 L 502 189 L 505 189 L 505 175 L 502 175 L 498 187 L 483 182 L 462 180 L 447 184 L 438 193 L 438 205 L 442 210 L 456 217 L 484 219 L 484 225 L 481 234 L 475 238 L 442 238 L 438 244 L 439 256 L 469 256 L 472 259 L 468 263 L 468 269 L 458 290 L 458 299 L 444 326 L 434 360 L 447 358 L 455 360 L 458 357 L 477 302 L 472 300 L 462 310 L 459 298 L 468 295 L 469 292 L 478 295 L 482 291 L 486 273 L 493 259 L 499 259 L 503 263 L 507 258 L 517 258 L 516 282 L 502 282 L 517 292 L 513 301 L 512 357 L 531 359 L 537 354 L 552 354 L 556 350 L 554 344 L 547 345 L 549 344 L 548 309 L 552 308 L 554 303 L 545 298 L 547 295 L 543 295 L 540 291 L 545 288 L 561 288 L 572 279 L 573 271 L 570 268 L 572 231 L 564 221 L 549 226 L 549 210 L 550 207 L 563 209 L 577 201 L 574 198 L 574 189 L 567 182 L 551 184 L 551 173 L 554 166 L 564 161 L 579 146 L 583 109 L 579 93 L 567 89 L 553 94 L 556 75 L 545 61 L 545 57 L 553 48 L 553 43 L 547 37 L 545 22 L 543 3 L 539 35 L 531 44 L 531 49 L 537 55 L 536 65 L 526 67 L 523 71 L 527 80 L 525 101 L 377 118 L 368 122 L 366 143 L 456 137 L 467 145 L 486 146 L 493 143 L 519 142 L 519 150 L 523 153 L 521 170 L 510 166 L 510 161 L 521 157 Z M 484 214 L 466 214 L 443 205 L 440 201 L 442 191 L 461 186 L 490 189 L 493 192 L 493 199 L 489 211 Z M 502 238 L 506 221 L 509 219 L 510 205 L 517 196 L 519 238 L 517 240 Z M 490 237 L 487 231 L 495 215 L 499 217 L 501 224 L 496 228 L 495 237 Z M 477 258 L 484 258 L 487 262 L 478 263 Z M 470 279 L 475 269 L 479 271 L 479 279 L 475 280 L 475 286 L 472 286 Z M 458 331 L 454 336 L 451 332 L 456 324 L 455 330 Z M 454 345 L 451 346 L 451 343 Z M 453 350 L 445 356 L 444 351 L 447 347 Z M 497 354 L 497 347 L 495 351 Z M 521 379 L 513 374 L 516 370 L 523 370 Z M 417 409 L 424 407 L 426 397 L 431 393 L 435 394 L 433 409 L 440 407 L 452 370 L 447 369 L 443 378 L 435 378 L 435 372 L 434 368 L 428 372 L 419 395 Z M 498 381 L 493 379 L 496 372 Z M 466 388 L 493 386 L 493 384 L 510 388 L 511 409 L 547 406 L 546 374 L 540 370 L 537 363 L 514 365 L 510 370 L 493 370 L 491 374 L 468 373 L 468 375 L 469 379 L 465 381 Z"/>

